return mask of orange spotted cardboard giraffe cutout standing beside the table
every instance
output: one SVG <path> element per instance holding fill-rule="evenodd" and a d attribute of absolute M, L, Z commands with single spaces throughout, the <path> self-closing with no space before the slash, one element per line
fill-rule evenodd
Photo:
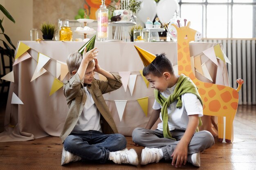
<path fill-rule="evenodd" d="M 204 115 L 218 117 L 218 138 L 220 142 L 230 143 L 233 141 L 233 121 L 238 107 L 238 91 L 242 87 L 243 79 L 237 79 L 237 89 L 229 86 L 211 84 L 198 80 L 191 69 L 189 42 L 200 40 L 202 34 L 189 28 L 190 22 L 180 27 L 172 24 L 173 31 L 177 33 L 177 62 L 178 74 L 189 76 L 198 87 L 198 92 L 204 102 Z M 225 121 L 225 122 L 224 122 Z M 202 122 L 204 124 L 204 122 Z M 224 132 L 225 130 L 225 132 Z M 225 140 L 223 140 L 225 139 Z"/>

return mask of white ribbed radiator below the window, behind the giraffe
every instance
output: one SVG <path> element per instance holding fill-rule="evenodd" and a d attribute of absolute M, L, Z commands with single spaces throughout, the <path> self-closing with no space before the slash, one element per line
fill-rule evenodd
<path fill-rule="evenodd" d="M 203 42 L 221 42 L 231 65 L 227 64 L 229 84 L 237 88 L 236 79 L 245 83 L 239 91 L 239 104 L 256 104 L 256 39 L 203 39 Z"/>

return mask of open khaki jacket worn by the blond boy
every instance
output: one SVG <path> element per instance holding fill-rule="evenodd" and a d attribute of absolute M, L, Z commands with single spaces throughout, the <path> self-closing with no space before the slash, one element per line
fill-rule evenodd
<path fill-rule="evenodd" d="M 118 133 L 115 122 L 110 115 L 110 110 L 102 95 L 115 91 L 122 86 L 121 77 L 116 74 L 112 75 L 115 79 L 108 78 L 107 81 L 93 79 L 92 84 L 87 84 L 87 89 L 91 93 L 92 99 L 101 113 L 101 129 L 104 134 Z M 87 98 L 85 89 L 83 88 L 83 80 L 80 80 L 77 73 L 64 83 L 63 91 L 67 99 L 69 111 L 60 135 L 62 142 L 65 141 L 66 137 L 70 135 L 76 126 Z"/>

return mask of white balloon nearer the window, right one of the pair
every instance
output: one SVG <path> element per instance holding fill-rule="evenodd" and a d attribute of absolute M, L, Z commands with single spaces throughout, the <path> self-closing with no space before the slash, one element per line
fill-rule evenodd
<path fill-rule="evenodd" d="M 157 4 L 157 17 L 160 22 L 167 23 L 173 18 L 175 10 L 178 12 L 178 9 L 177 0 L 160 0 Z"/>

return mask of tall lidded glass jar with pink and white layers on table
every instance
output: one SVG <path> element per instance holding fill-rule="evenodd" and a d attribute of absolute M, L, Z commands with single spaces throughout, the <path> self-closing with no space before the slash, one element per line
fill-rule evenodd
<path fill-rule="evenodd" d="M 105 0 L 101 0 L 101 6 L 97 10 L 98 30 L 97 35 L 100 41 L 108 39 L 108 9 Z"/>

